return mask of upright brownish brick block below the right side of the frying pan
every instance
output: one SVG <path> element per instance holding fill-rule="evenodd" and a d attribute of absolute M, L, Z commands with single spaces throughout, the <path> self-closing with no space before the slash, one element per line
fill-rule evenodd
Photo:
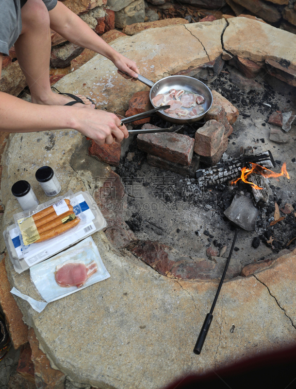
<path fill-rule="evenodd" d="M 203 157 L 212 157 L 218 151 L 225 127 L 216 120 L 209 120 L 195 134 L 194 151 Z"/>

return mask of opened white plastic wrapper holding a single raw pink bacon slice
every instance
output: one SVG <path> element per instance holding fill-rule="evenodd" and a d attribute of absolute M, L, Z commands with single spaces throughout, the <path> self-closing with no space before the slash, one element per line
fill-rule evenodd
<path fill-rule="evenodd" d="M 89 266 L 89 264 L 91 265 Z M 67 270 L 68 279 L 70 277 L 70 280 L 74 280 L 74 283 L 76 283 L 75 278 L 80 277 L 78 285 L 60 286 L 57 282 L 58 270 L 65 265 L 72 265 L 73 268 L 73 272 L 70 276 L 69 271 Z M 77 267 L 82 268 L 82 270 L 83 268 L 89 269 L 89 267 L 91 267 L 91 271 L 86 270 L 87 274 L 77 275 L 76 265 Z M 110 274 L 103 264 L 99 255 L 99 250 L 90 236 L 82 240 L 82 242 L 78 243 L 76 246 L 68 248 L 63 253 L 32 266 L 30 268 L 30 277 L 39 294 L 45 301 L 36 301 L 30 296 L 22 294 L 15 287 L 12 288 L 11 293 L 28 301 L 35 311 L 42 312 L 49 302 L 62 299 L 89 285 L 106 280 L 110 277 Z M 82 281 L 83 284 L 80 285 Z"/>

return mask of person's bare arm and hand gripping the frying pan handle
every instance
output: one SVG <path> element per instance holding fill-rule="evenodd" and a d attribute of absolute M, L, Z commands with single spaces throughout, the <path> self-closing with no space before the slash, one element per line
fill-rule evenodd
<path fill-rule="evenodd" d="M 99 37 L 79 16 L 70 11 L 66 5 L 57 2 L 57 5 L 49 11 L 50 28 L 62 35 L 69 42 L 93 50 L 106 58 L 110 59 L 119 73 L 122 71 L 130 74 L 131 77 L 137 77 L 139 70 L 134 61 L 116 52 L 108 43 Z"/>

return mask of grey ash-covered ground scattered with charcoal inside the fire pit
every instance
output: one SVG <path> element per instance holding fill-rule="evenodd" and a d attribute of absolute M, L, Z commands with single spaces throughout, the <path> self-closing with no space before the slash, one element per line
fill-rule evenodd
<path fill-rule="evenodd" d="M 278 144 L 269 141 L 272 124 L 268 118 L 275 110 L 295 111 L 295 91 L 285 88 L 286 94 L 280 93 L 258 77 L 258 88 L 252 88 L 251 80 L 247 86 L 238 88 L 232 82 L 229 65 L 210 84 L 226 97 L 240 112 L 233 125 L 233 133 L 229 137 L 226 154 L 229 158 L 240 155 L 241 147 L 251 146 L 254 154 L 270 150 L 276 160 L 273 171 L 279 173 L 283 162 L 287 163 L 290 179 L 270 178 L 269 204 L 259 208 L 260 214 L 254 231 L 240 230 L 232 255 L 242 265 L 263 259 L 269 254 L 286 248 L 286 244 L 296 237 L 294 212 L 283 214 L 285 219 L 274 226 L 275 202 L 282 208 L 286 203 L 292 204 L 296 212 L 295 168 L 296 168 L 296 125 L 288 132 L 290 141 Z M 232 73 L 233 74 L 233 73 Z M 233 78 L 232 78 L 233 79 Z M 251 86 L 250 86 L 251 85 Z M 260 87 L 260 88 L 259 88 Z M 249 90 L 247 90 L 249 89 Z M 295 113 L 295 112 L 294 112 Z M 152 118 L 151 124 L 170 127 L 172 124 Z M 140 127 L 139 127 L 140 128 Z M 182 133 L 194 137 L 198 128 L 188 126 Z M 280 127 L 278 127 L 280 128 Z M 134 231 L 138 239 L 156 240 L 177 248 L 184 255 L 206 258 L 206 249 L 212 247 L 218 253 L 227 246 L 227 256 L 234 236 L 234 227 L 223 212 L 230 206 L 236 193 L 250 196 L 249 185 L 238 182 L 237 185 L 219 185 L 211 190 L 198 190 L 190 179 L 176 173 L 151 167 L 147 163 L 146 154 L 137 148 L 136 136 L 130 139 L 129 150 L 121 159 L 116 169 L 121 177 L 131 178 L 126 181 L 128 212 L 126 223 Z M 129 157 L 129 160 L 127 157 Z M 199 168 L 206 168 L 200 164 Z M 268 243 L 267 241 L 271 242 Z M 289 246 L 295 247 L 296 240 Z"/>

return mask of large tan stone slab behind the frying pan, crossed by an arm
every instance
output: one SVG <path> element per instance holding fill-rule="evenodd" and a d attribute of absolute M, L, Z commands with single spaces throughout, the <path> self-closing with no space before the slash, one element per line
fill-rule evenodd
<path fill-rule="evenodd" d="M 211 23 L 153 28 L 123 36 L 111 46 L 134 60 L 141 74 L 156 82 L 222 54 L 221 34 L 226 25 L 226 21 L 220 19 Z M 99 108 L 106 107 L 117 113 L 128 109 L 135 92 L 150 90 L 140 82 L 125 80 L 113 63 L 101 55 L 65 77 L 56 84 L 59 90 L 90 96 Z"/>

